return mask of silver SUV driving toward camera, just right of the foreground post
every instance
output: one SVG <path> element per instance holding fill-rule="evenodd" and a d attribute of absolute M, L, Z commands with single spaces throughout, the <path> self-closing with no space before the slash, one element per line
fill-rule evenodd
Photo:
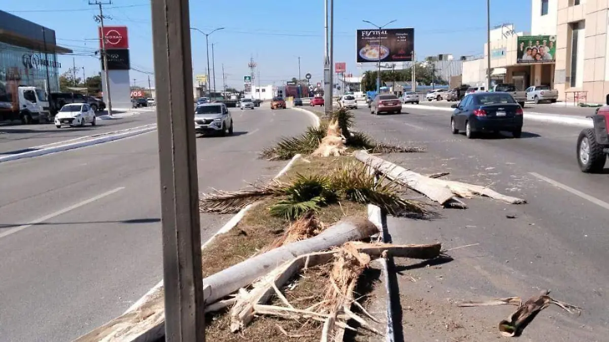
<path fill-rule="evenodd" d="M 224 103 L 203 103 L 194 110 L 194 130 L 199 134 L 233 134 L 233 116 Z"/>

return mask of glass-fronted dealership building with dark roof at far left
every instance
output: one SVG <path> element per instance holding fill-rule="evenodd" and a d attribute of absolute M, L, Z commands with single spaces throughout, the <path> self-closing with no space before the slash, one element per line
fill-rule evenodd
<path fill-rule="evenodd" d="M 57 45 L 54 30 L 0 10 L 0 98 L 10 82 L 59 91 L 57 55 L 71 52 Z"/>

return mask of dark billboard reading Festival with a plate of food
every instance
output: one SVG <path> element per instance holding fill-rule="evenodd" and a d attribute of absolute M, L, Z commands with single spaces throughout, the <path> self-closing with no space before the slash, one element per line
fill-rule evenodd
<path fill-rule="evenodd" d="M 357 30 L 357 63 L 412 61 L 415 29 Z"/>

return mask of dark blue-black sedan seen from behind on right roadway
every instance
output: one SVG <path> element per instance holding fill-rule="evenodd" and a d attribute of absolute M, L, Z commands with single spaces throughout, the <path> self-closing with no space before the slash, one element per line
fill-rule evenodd
<path fill-rule="evenodd" d="M 473 139 L 483 131 L 510 131 L 520 138 L 523 132 L 523 108 L 507 92 L 473 92 L 451 107 L 452 134 L 465 131 Z"/>

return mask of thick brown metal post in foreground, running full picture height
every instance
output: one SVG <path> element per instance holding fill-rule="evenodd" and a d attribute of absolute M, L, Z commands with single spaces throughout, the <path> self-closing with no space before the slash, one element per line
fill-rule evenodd
<path fill-rule="evenodd" d="M 188 0 L 155 0 L 151 4 L 161 175 L 165 338 L 167 342 L 204 342 Z"/>

